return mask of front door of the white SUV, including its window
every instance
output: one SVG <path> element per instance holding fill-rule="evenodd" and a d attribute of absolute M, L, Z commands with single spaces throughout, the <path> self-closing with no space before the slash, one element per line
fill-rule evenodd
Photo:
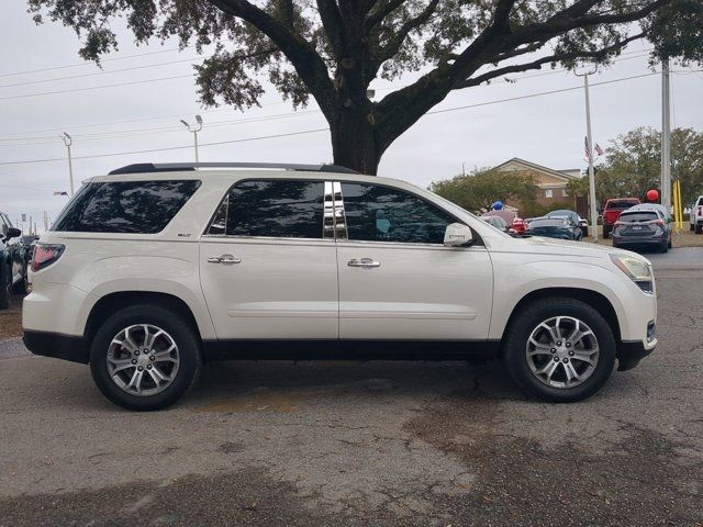
<path fill-rule="evenodd" d="M 342 182 L 341 190 L 339 338 L 488 338 L 493 271 L 486 248 L 445 247 L 445 229 L 457 220 L 415 194 L 371 183 Z"/>

